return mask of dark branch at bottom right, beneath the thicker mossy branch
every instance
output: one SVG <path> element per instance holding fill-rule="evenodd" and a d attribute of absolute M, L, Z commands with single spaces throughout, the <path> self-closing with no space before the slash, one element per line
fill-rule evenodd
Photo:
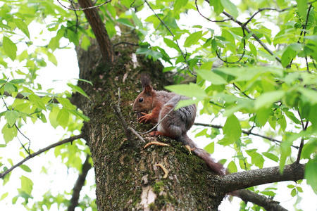
<path fill-rule="evenodd" d="M 267 211 L 287 211 L 284 207 L 280 205 L 279 202 L 261 196 L 249 190 L 239 190 L 237 192 L 237 197 L 241 198 L 244 203 L 254 203 L 266 209 Z"/>

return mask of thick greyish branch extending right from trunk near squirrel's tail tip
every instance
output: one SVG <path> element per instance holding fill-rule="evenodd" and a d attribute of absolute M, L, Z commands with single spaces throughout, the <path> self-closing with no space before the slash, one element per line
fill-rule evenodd
<path fill-rule="evenodd" d="M 228 174 L 223 177 L 223 191 L 229 193 L 272 182 L 297 181 L 304 179 L 304 170 L 304 164 L 293 163 L 292 165 L 286 165 L 282 174 L 280 174 L 280 167 L 267 167 Z"/>

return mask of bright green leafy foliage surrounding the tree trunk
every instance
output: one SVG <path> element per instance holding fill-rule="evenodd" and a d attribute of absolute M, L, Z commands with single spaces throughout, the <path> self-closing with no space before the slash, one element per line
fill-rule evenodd
<path fill-rule="evenodd" d="M 85 91 L 71 82 L 63 92 L 43 90 L 37 77 L 49 63 L 57 65 L 56 49 L 87 50 L 94 33 L 73 1 L 0 4 L 0 146 L 5 150 L 23 137 L 16 151 L 24 159 L 34 152 L 32 140 L 21 132 L 23 125 L 49 122 L 70 136 L 89 121 L 70 101 L 75 92 L 89 98 Z M 136 53 L 161 60 L 163 72 L 175 74 L 175 84 L 197 76 L 196 83 L 166 89 L 193 98 L 179 106 L 199 103 L 199 115 L 212 117 L 211 129 L 201 129 L 197 136 L 212 141 L 206 147 L 211 153 L 215 144 L 235 150 L 225 162 L 230 172 L 262 168 L 268 160 L 282 172 L 286 164 L 302 160 L 307 184 L 317 191 L 317 1 L 113 0 L 95 5 L 110 38 L 128 27 L 139 37 Z M 79 140 L 54 152 L 79 172 L 89 149 Z M 14 165 L 11 158 L 0 160 L 2 173 Z M 3 185 L 13 182 L 10 175 L 4 175 Z M 24 198 L 27 207 L 36 181 L 25 175 L 20 181 L 13 203 Z M 292 196 L 302 192 L 300 186 L 288 187 Z M 260 191 L 275 196 L 275 188 Z M 1 200 L 7 196 L 2 193 Z M 49 199 L 66 205 L 59 194 L 48 192 L 43 198 L 28 208 L 48 206 Z"/>

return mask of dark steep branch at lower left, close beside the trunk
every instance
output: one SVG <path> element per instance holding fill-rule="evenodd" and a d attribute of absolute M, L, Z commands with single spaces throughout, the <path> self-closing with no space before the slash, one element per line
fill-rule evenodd
<path fill-rule="evenodd" d="M 86 160 L 85 160 L 84 164 L 82 165 L 82 172 L 78 176 L 78 179 L 77 179 L 75 186 L 73 188 L 73 195 L 72 195 L 72 198 L 70 199 L 70 206 L 68 207 L 68 211 L 75 210 L 75 207 L 77 207 L 77 205 L 78 205 L 80 191 L 82 190 L 82 186 L 84 186 L 84 184 L 85 184 L 88 171 L 92 168 L 92 165 L 90 165 L 90 163 L 89 163 L 89 158 L 90 158 L 90 156 L 87 155 Z"/>

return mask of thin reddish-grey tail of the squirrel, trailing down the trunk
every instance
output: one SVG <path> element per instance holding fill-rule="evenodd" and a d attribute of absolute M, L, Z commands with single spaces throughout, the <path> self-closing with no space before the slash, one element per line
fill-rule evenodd
<path fill-rule="evenodd" d="M 194 141 L 192 141 L 192 139 L 189 139 L 187 134 L 178 139 L 178 141 L 181 141 L 184 145 L 190 146 L 190 148 L 194 148 L 194 154 L 204 160 L 211 171 L 216 172 L 216 174 L 220 176 L 224 176 L 226 174 L 225 167 L 223 167 L 223 165 L 219 162 L 213 160 L 213 158 L 211 158 L 211 155 L 207 153 L 207 151 L 202 148 L 198 148 Z"/>

